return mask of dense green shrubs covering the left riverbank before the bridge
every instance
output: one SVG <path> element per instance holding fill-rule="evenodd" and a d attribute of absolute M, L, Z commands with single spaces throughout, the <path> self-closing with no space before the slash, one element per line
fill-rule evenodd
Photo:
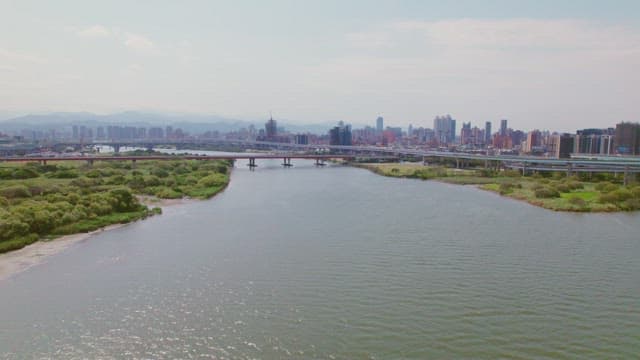
<path fill-rule="evenodd" d="M 139 155 L 139 154 L 136 154 Z M 38 240 L 159 214 L 135 195 L 206 199 L 229 183 L 231 161 L 50 160 L 0 164 L 0 253 Z"/>

